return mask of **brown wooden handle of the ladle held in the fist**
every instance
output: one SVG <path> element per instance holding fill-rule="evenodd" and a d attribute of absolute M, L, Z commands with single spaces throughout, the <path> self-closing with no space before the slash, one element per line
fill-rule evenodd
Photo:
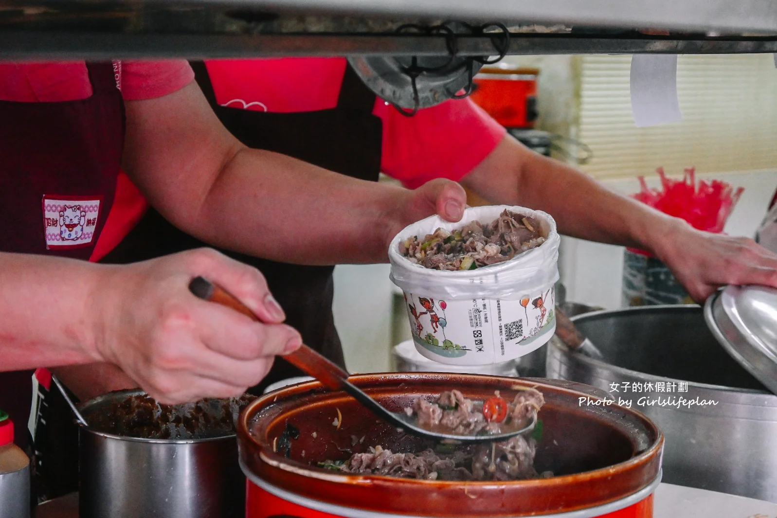
<path fill-rule="evenodd" d="M 246 304 L 243 304 L 234 295 L 218 286 L 218 284 L 211 283 L 211 281 L 204 277 L 195 277 L 189 283 L 189 290 L 204 301 L 211 301 L 232 308 L 256 322 L 261 322 L 256 313 L 251 311 Z M 334 391 L 343 388 L 343 381 L 346 381 L 348 378 L 348 373 L 341 369 L 340 366 L 333 363 L 326 356 L 315 352 L 304 343 L 294 353 L 285 354 L 281 357 L 294 365 L 294 367 L 321 381 L 326 388 Z"/>

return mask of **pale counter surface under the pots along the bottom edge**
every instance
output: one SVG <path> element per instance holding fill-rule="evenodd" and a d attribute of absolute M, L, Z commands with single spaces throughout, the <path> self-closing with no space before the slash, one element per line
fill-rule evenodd
<path fill-rule="evenodd" d="M 705 489 L 661 484 L 653 518 L 777 518 L 777 504 Z M 75 493 L 38 506 L 35 518 L 78 518 Z"/>

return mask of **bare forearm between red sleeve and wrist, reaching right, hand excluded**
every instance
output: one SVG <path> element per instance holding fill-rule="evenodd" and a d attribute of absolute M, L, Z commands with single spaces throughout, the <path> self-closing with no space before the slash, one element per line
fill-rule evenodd
<path fill-rule="evenodd" d="M 509 136 L 463 183 L 494 203 L 545 210 L 559 232 L 591 241 L 654 249 L 662 231 L 683 224 Z"/>

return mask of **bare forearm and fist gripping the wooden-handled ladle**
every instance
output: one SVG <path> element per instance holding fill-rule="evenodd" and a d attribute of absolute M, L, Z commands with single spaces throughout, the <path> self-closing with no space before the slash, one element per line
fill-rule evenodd
<path fill-rule="evenodd" d="M 195 297 L 196 276 L 260 322 Z M 57 370 L 85 397 L 137 381 L 163 403 L 228 398 L 301 343 L 259 270 L 212 249 L 122 266 L 0 254 L 0 315 L 0 370 L 91 363 Z"/>

